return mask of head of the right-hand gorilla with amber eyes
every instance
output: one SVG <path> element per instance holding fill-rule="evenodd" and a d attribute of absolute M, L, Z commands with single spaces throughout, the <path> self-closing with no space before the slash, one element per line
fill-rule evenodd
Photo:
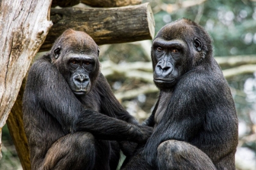
<path fill-rule="evenodd" d="M 212 39 L 200 25 L 188 19 L 165 25 L 152 43 L 156 86 L 170 89 L 208 55 L 212 55 Z"/>

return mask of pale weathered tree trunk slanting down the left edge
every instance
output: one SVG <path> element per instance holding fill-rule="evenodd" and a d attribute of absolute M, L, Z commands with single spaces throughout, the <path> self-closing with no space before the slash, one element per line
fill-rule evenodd
<path fill-rule="evenodd" d="M 1 142 L 1 129 L 15 103 L 29 64 L 46 38 L 52 22 L 49 21 L 51 0 L 1 0 L 0 2 Z"/>

